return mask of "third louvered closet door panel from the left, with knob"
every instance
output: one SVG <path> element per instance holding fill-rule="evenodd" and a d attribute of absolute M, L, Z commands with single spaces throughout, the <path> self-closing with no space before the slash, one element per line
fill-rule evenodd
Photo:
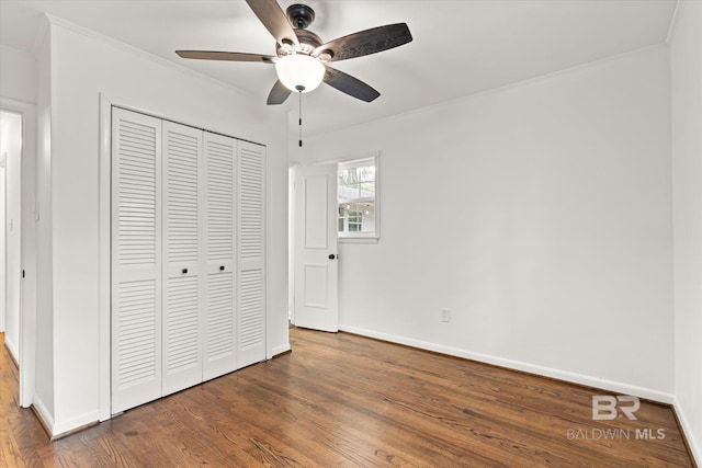
<path fill-rule="evenodd" d="M 236 158 L 237 140 L 205 133 L 206 315 L 203 378 L 237 369 Z"/>

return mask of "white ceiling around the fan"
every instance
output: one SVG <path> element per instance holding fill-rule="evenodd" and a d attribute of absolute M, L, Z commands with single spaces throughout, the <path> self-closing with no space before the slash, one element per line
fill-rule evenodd
<path fill-rule="evenodd" d="M 381 92 L 364 103 L 322 85 L 305 94 L 306 133 L 341 128 L 666 42 L 676 0 L 281 0 L 303 2 L 324 41 L 406 22 L 408 45 L 333 64 Z M 31 52 L 43 12 L 248 91 L 273 67 L 184 60 L 176 49 L 274 55 L 244 0 L 0 0 L 0 44 Z M 297 100 L 284 104 L 296 112 Z"/>

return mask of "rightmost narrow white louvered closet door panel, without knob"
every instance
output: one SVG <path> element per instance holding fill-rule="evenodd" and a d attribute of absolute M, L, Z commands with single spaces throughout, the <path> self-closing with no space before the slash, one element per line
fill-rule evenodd
<path fill-rule="evenodd" d="M 265 147 L 239 141 L 238 364 L 265 358 Z"/>

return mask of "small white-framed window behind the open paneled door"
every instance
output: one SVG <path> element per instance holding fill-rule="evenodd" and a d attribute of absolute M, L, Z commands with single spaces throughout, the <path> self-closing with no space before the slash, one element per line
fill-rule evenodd
<path fill-rule="evenodd" d="M 378 238 L 377 187 L 377 157 L 339 164 L 339 238 Z"/>

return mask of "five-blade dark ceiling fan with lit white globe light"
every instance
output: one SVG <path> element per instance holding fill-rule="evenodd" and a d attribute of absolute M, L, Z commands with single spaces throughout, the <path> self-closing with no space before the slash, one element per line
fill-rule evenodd
<path fill-rule="evenodd" d="M 293 91 L 313 91 L 322 81 L 353 98 L 371 102 L 381 93 L 328 64 L 387 50 L 412 39 L 407 24 L 397 23 L 322 43 L 317 34 L 307 30 L 315 20 L 312 8 L 296 3 L 283 13 L 275 0 L 247 0 L 247 3 L 275 38 L 275 56 L 215 50 L 176 50 L 176 54 L 201 60 L 274 64 L 279 79 L 268 95 L 269 105 L 282 104 Z"/>

